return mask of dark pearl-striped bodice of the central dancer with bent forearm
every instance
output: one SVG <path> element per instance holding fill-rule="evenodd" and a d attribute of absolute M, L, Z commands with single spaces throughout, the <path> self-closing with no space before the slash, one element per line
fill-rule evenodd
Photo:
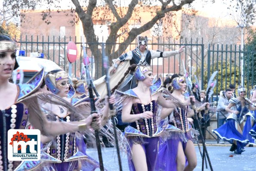
<path fill-rule="evenodd" d="M 157 107 L 157 101 L 151 101 L 149 104 L 133 104 L 131 114 L 136 115 L 145 111 L 151 111 L 153 116 L 151 119 L 139 119 L 136 122 L 132 122 L 130 126 L 151 137 L 157 131 Z"/>

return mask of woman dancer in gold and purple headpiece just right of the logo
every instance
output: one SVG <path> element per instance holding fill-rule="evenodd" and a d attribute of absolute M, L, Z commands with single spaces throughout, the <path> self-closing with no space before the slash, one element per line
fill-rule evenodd
<path fill-rule="evenodd" d="M 47 88 L 52 93 L 68 101 L 75 108 L 79 108 L 79 111 L 83 111 L 84 117 L 90 115 L 91 110 L 90 104 L 87 102 L 89 100 L 88 97 L 68 98 L 73 97 L 73 95 L 68 95 L 70 90 L 72 90 L 68 82 L 68 73 L 63 70 L 52 70 L 47 73 L 44 80 Z M 84 86 L 83 88 L 85 89 Z M 114 103 L 114 96 L 112 96 L 109 101 L 110 103 Z M 100 119 L 102 125 L 105 125 L 108 120 L 108 100 L 106 100 L 106 103 Z M 74 113 L 69 113 L 65 107 L 47 103 L 43 105 L 43 108 L 49 111 L 55 111 L 53 114 L 47 114 L 49 120 L 56 120 L 57 122 L 70 122 L 73 121 L 73 119 L 77 120 L 77 116 Z M 89 134 L 92 134 L 92 132 L 89 131 Z M 50 169 L 56 171 L 73 171 L 74 169 L 93 171 L 99 168 L 99 163 L 86 154 L 86 144 L 83 141 L 83 135 L 79 132 L 60 134 L 53 142 L 51 141 L 49 144 L 46 144 L 46 146 L 49 146 L 46 149 L 46 153 L 60 161 L 59 163 L 48 165 Z M 79 164 L 81 164 L 81 167 Z"/>

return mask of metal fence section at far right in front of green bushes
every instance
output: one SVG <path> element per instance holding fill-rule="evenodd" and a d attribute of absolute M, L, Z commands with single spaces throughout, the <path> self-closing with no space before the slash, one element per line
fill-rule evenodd
<path fill-rule="evenodd" d="M 236 88 L 238 85 L 243 85 L 248 90 L 247 95 L 249 96 L 249 90 L 253 89 L 253 85 L 256 83 L 253 69 L 255 66 L 253 55 L 256 52 L 248 51 L 247 49 L 243 51 L 241 45 L 223 44 L 209 45 L 207 52 L 207 65 L 204 66 L 207 75 L 204 76 L 204 87 L 206 87 L 210 74 L 218 70 L 215 95 L 218 95 L 221 90 L 227 89 L 230 84 L 234 84 Z M 244 71 L 243 76 L 241 76 L 242 69 Z"/>

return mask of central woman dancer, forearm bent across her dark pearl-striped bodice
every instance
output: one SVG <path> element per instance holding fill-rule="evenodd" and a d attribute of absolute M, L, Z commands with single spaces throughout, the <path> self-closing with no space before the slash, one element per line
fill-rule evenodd
<path fill-rule="evenodd" d="M 134 70 L 135 67 L 132 65 L 129 69 Z M 163 98 L 158 92 L 162 82 L 158 79 L 153 85 L 151 67 L 137 66 L 134 76 L 138 86 L 124 92 L 120 99 L 123 106 L 122 121 L 129 123 L 124 130 L 130 145 L 128 164 L 130 171 L 154 171 L 158 156 L 158 136 L 163 130 L 157 125 L 157 109 L 160 105 L 175 107 L 182 104 Z"/>

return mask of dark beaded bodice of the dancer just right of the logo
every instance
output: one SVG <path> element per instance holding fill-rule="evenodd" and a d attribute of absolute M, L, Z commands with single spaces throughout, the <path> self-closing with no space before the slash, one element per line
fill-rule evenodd
<path fill-rule="evenodd" d="M 49 119 L 49 118 L 48 118 Z M 59 118 L 56 116 L 57 122 L 70 122 L 70 116 Z M 53 120 L 53 119 L 50 119 Z M 51 146 L 47 148 L 46 153 L 52 157 L 64 161 L 76 153 L 76 139 L 75 133 L 61 134 L 56 137 L 56 142 L 52 142 Z"/>

